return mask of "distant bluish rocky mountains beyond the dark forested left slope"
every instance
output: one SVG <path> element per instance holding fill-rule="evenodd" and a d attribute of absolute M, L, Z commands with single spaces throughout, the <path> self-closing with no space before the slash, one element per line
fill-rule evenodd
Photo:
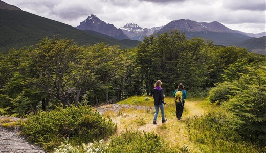
<path fill-rule="evenodd" d="M 205 40 L 213 41 L 215 45 L 234 45 L 248 48 L 256 53 L 266 54 L 266 42 L 263 41 L 263 36 L 266 35 L 266 32 L 259 34 L 245 33 L 229 29 L 217 21 L 207 23 L 196 22 L 189 19 L 179 19 L 173 20 L 164 26 L 153 28 L 141 28 L 135 23 L 127 23 L 123 27 L 117 29 L 113 24 L 107 24 L 96 17 L 96 15 L 92 14 L 88 16 L 86 20 L 80 22 L 80 25 L 76 28 L 97 31 L 117 39 L 125 38 L 125 36 L 122 35 L 123 32 L 128 38 L 139 41 L 141 41 L 143 37 L 152 34 L 157 35 L 177 29 L 180 32 L 184 32 L 188 39 L 201 37 Z M 120 38 L 118 36 L 120 36 Z M 247 41 L 249 43 L 247 43 Z"/>

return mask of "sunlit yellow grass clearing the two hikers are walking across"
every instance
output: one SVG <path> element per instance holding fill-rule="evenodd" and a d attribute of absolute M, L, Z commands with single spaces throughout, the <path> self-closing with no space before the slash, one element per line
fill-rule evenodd
<path fill-rule="evenodd" d="M 153 98 L 148 97 L 149 100 L 145 100 L 147 96 L 134 96 L 126 100 L 123 100 L 117 104 L 129 104 L 140 106 L 153 106 Z M 166 105 L 164 105 L 165 123 L 161 122 L 161 112 L 159 111 L 157 117 L 157 124 L 153 125 L 153 117 L 155 109 L 134 109 L 123 108 L 119 112 L 106 112 L 104 116 L 112 117 L 112 120 L 117 123 L 118 133 L 129 131 L 146 131 L 158 134 L 163 138 L 169 147 L 183 147 L 189 146 L 191 150 L 196 150 L 196 145 L 189 141 L 188 130 L 186 126 L 186 119 L 194 115 L 201 116 L 209 111 L 219 109 L 208 103 L 206 99 L 187 99 L 185 102 L 185 108 L 181 121 L 176 119 L 175 102 L 173 97 L 164 98 Z"/>

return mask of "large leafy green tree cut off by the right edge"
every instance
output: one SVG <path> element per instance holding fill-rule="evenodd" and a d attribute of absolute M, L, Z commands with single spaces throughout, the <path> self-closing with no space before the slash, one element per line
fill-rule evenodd
<path fill-rule="evenodd" d="M 228 102 L 230 109 L 239 117 L 242 124 L 240 133 L 263 147 L 266 144 L 266 63 L 248 66 L 247 74 L 238 80 L 235 96 Z"/>

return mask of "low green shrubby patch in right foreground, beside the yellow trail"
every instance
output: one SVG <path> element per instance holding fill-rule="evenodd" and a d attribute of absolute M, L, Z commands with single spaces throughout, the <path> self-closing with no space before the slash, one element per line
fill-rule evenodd
<path fill-rule="evenodd" d="M 210 112 L 186 120 L 189 139 L 202 152 L 260 152 L 259 147 L 246 142 L 236 131 L 236 117 L 223 112 Z"/>

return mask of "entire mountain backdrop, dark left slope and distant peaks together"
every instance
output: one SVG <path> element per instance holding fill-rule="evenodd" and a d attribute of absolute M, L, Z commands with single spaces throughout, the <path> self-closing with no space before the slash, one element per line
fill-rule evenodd
<path fill-rule="evenodd" d="M 143 37 L 157 35 L 170 30 L 184 32 L 188 39 L 201 37 L 213 41 L 215 45 L 239 46 L 252 52 L 266 55 L 265 32 L 259 34 L 231 30 L 223 24 L 214 22 L 196 22 L 189 19 L 173 20 L 161 27 L 141 28 L 128 23 L 121 28 L 100 20 L 96 15 L 88 16 L 76 28 L 43 18 L 16 6 L 1 2 L 1 51 L 33 45 L 43 37 L 74 39 L 80 45 L 92 45 L 106 42 L 109 45 L 120 45 L 121 48 L 136 47 Z"/>

